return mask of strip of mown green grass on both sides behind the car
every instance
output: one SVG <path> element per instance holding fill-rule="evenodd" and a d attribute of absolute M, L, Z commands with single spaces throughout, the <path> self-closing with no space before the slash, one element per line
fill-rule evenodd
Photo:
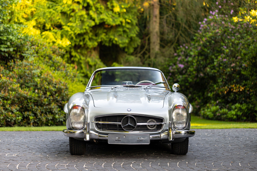
<path fill-rule="evenodd" d="M 257 122 L 229 122 L 202 119 L 199 116 L 191 117 L 190 129 L 230 129 L 230 128 L 257 128 Z M 62 131 L 65 126 L 38 126 L 38 127 L 0 127 L 0 131 Z"/>

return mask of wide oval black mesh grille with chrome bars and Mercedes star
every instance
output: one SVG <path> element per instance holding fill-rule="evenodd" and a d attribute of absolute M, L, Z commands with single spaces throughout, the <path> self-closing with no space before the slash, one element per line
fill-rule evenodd
<path fill-rule="evenodd" d="M 136 119 L 135 128 L 132 130 L 128 130 L 128 126 L 124 126 L 121 122 L 128 122 L 128 117 L 130 116 L 132 119 Z M 124 118 L 124 120 L 123 120 Z M 155 132 L 162 129 L 163 118 L 157 118 L 146 115 L 105 115 L 95 117 L 95 126 L 97 129 L 106 130 L 106 131 L 131 131 L 131 132 Z M 123 120 L 123 121 L 122 121 Z M 97 123 L 101 122 L 101 123 Z M 102 123 L 107 122 L 107 123 Z M 112 123 L 109 123 L 112 122 Z M 135 124 L 134 121 L 131 121 L 132 124 Z M 149 125 L 149 123 L 154 123 L 153 125 Z"/>

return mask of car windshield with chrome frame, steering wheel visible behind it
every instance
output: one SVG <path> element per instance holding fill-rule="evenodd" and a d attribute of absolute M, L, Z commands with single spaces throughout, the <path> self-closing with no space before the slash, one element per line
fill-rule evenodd
<path fill-rule="evenodd" d="M 156 82 L 165 82 L 160 71 L 149 69 L 108 69 L 101 70 L 93 76 L 91 86 L 106 85 L 142 85 L 147 86 Z M 168 87 L 167 83 L 156 86 Z"/>

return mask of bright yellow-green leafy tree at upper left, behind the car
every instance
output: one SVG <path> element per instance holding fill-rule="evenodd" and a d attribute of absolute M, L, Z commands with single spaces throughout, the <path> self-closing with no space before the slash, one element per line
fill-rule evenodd
<path fill-rule="evenodd" d="M 130 0 L 23 0 L 15 9 L 12 22 L 27 25 L 24 33 L 65 49 L 63 59 L 75 64 L 84 83 L 95 69 L 106 66 L 99 58 L 101 46 L 117 45 L 132 53 L 140 42 L 138 12 Z"/>

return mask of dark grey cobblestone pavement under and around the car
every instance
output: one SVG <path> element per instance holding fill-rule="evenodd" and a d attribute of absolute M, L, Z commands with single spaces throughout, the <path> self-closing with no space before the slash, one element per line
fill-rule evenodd
<path fill-rule="evenodd" d="M 61 132 L 0 132 L 0 170 L 257 170 L 257 129 L 196 129 L 187 155 L 167 144 L 87 145 L 72 156 Z"/>

